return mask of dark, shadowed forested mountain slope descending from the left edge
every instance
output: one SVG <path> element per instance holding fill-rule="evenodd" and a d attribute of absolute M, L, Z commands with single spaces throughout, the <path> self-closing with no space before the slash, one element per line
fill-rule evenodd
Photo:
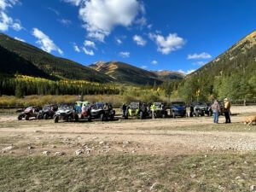
<path fill-rule="evenodd" d="M 102 83 L 113 81 L 108 75 L 96 72 L 90 67 L 84 67 L 77 62 L 50 55 L 31 44 L 20 42 L 4 34 L 0 34 L 0 46 L 3 48 L 0 51 L 5 53 L 8 51 L 9 55 L 15 53 L 8 59 L 9 62 L 12 61 L 13 65 L 1 64 L 0 72 L 24 73 L 20 66 L 25 61 L 34 65 L 33 69 L 30 65 L 31 73 L 34 72 L 33 76 L 41 76 L 40 73 L 44 73 L 51 76 L 52 79 L 83 79 Z M 6 55 L 6 58 L 8 58 L 8 55 Z M 20 58 L 22 58 L 22 61 Z"/>

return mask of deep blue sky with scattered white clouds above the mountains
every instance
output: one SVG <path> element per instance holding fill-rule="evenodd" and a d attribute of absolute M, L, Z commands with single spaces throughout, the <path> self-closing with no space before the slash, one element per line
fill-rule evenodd
<path fill-rule="evenodd" d="M 256 26 L 254 0 L 0 0 L 0 32 L 88 65 L 189 73 Z"/>

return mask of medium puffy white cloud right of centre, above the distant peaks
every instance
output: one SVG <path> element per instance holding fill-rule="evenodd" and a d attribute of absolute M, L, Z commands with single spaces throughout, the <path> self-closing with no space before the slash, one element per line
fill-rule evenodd
<path fill-rule="evenodd" d="M 157 50 L 164 55 L 181 49 L 186 43 L 183 38 L 177 36 L 177 33 L 170 33 L 166 38 L 160 34 L 149 33 L 149 38 L 157 44 Z"/>

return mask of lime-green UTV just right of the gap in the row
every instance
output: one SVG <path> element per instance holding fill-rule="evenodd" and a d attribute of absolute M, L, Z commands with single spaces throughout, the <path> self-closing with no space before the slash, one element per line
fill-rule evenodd
<path fill-rule="evenodd" d="M 147 103 L 131 102 L 125 112 L 125 119 L 131 118 L 146 119 L 150 115 Z"/>

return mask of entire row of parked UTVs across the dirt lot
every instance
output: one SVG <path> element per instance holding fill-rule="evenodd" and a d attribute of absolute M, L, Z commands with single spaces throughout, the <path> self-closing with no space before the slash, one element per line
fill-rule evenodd
<path fill-rule="evenodd" d="M 122 106 L 123 119 L 148 119 L 153 117 L 154 105 L 154 118 L 167 118 L 167 117 L 199 117 L 199 116 L 212 116 L 212 110 L 209 108 L 211 103 L 206 102 L 193 102 L 189 106 L 185 102 L 171 102 L 169 105 L 163 102 L 143 103 L 131 102 L 128 106 Z M 222 103 L 220 103 L 222 107 Z M 187 111 L 189 108 L 189 111 Z M 29 120 L 35 119 L 54 119 L 58 123 L 60 119 L 65 121 L 79 121 L 79 119 L 100 119 L 101 121 L 113 120 L 115 117 L 115 110 L 110 103 L 96 102 L 75 102 L 74 104 L 61 104 L 61 105 L 46 105 L 44 108 L 32 106 L 22 110 L 18 115 L 18 119 Z"/>

